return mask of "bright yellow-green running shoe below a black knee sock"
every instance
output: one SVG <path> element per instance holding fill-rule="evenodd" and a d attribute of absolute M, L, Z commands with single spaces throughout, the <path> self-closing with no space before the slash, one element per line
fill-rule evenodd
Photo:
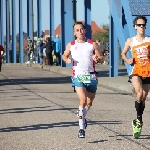
<path fill-rule="evenodd" d="M 138 139 L 142 131 L 143 122 L 140 122 L 138 119 L 135 119 L 132 121 L 132 126 L 133 126 L 133 137 L 135 139 Z"/>

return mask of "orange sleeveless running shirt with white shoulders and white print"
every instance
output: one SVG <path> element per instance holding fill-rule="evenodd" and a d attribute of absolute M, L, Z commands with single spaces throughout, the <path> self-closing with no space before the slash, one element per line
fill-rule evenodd
<path fill-rule="evenodd" d="M 131 48 L 132 57 L 134 59 L 134 64 L 130 69 L 130 75 L 136 74 L 141 77 L 150 77 L 150 40 L 145 37 L 143 42 L 138 42 L 135 37 L 133 37 L 133 44 Z"/>

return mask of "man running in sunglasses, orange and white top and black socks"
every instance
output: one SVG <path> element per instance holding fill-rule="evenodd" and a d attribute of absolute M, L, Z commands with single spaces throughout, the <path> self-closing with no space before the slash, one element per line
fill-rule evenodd
<path fill-rule="evenodd" d="M 137 119 L 132 121 L 133 136 L 139 138 L 143 126 L 142 114 L 145 100 L 150 89 L 150 37 L 145 35 L 147 19 L 137 16 L 133 26 L 137 31 L 136 36 L 127 39 L 122 51 L 122 58 L 130 64 L 129 79 L 136 92 L 135 108 Z M 126 53 L 131 49 L 132 58 L 127 58 Z"/>

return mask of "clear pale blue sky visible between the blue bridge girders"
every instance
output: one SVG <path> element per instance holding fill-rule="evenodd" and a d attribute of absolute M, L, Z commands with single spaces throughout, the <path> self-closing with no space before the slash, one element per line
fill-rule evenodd
<path fill-rule="evenodd" d="M 3 0 L 4 1 L 4 0 Z M 14 0 L 10 0 L 14 1 Z M 34 1 L 34 31 L 37 30 L 37 0 Z M 55 28 L 60 24 L 60 1 L 54 0 L 54 14 Z M 18 0 L 16 0 L 16 5 L 18 5 Z M 19 6 L 19 5 L 18 5 Z M 95 21 L 98 26 L 102 24 L 109 24 L 109 6 L 107 0 L 91 0 L 91 20 Z M 4 1 L 4 12 L 5 12 L 5 1 Z M 19 32 L 19 12 L 18 8 L 16 8 L 16 32 Z M 26 0 L 23 0 L 23 30 L 27 31 L 27 4 Z M 77 0 L 77 20 L 84 20 L 84 0 Z M 42 29 L 49 29 L 49 0 L 42 0 Z M 4 13 L 4 27 L 5 27 L 5 13 Z M 5 29 L 4 29 L 5 30 Z M 4 32 L 5 33 L 5 32 Z"/>

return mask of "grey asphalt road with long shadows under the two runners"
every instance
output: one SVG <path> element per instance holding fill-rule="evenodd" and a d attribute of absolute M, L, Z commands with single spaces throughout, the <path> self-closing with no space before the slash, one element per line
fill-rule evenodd
<path fill-rule="evenodd" d="M 98 87 L 87 115 L 86 138 L 78 139 L 75 115 L 78 99 L 67 70 L 64 71 L 66 75 L 62 75 L 58 68 L 42 70 L 36 66 L 3 65 L 0 73 L 0 150 L 150 149 L 150 101 L 146 101 L 142 135 L 135 140 L 131 127 L 136 116 L 135 99 L 127 91 L 110 87 Z M 54 73 L 56 70 L 58 73 Z M 127 79 L 126 75 L 120 76 L 123 77 Z M 101 77 L 104 78 L 109 77 Z"/>

